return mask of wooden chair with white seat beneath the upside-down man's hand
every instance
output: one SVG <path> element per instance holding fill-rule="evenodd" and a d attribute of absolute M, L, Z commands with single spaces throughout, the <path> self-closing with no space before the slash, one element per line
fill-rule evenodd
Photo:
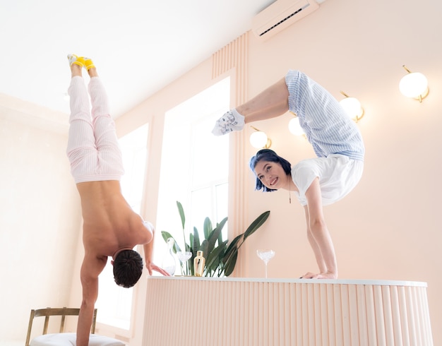
<path fill-rule="evenodd" d="M 64 333 L 64 323 L 66 316 L 78 316 L 80 309 L 75 308 L 47 308 L 32 309 L 30 311 L 28 335 L 26 335 L 25 346 L 72 346 L 76 345 L 76 333 Z M 44 316 L 43 334 L 33 338 L 30 341 L 32 322 L 34 318 Z M 59 333 L 47 334 L 50 316 L 61 316 Z M 97 321 L 97 309 L 94 310 L 92 317 L 92 327 L 90 328 L 89 346 L 125 346 L 124 342 L 107 336 L 95 334 L 95 323 Z"/>

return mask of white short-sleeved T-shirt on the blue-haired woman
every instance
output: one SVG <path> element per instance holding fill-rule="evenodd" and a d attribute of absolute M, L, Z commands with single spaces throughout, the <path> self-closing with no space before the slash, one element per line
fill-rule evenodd
<path fill-rule="evenodd" d="M 345 197 L 362 177 L 364 162 L 340 154 L 300 161 L 292 167 L 292 180 L 299 193 L 299 203 L 307 205 L 306 191 L 316 177 L 319 178 L 323 205 Z"/>

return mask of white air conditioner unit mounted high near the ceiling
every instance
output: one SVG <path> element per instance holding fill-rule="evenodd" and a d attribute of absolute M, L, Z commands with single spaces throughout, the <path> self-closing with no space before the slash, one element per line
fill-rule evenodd
<path fill-rule="evenodd" d="M 316 0 L 276 0 L 252 19 L 252 31 L 261 40 L 309 15 L 319 8 Z"/>

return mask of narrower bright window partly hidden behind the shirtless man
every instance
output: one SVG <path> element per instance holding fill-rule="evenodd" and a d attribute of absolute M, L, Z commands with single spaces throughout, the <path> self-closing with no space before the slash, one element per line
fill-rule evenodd
<path fill-rule="evenodd" d="M 121 192 L 136 213 L 141 213 L 148 129 L 148 124 L 145 124 L 119 139 L 125 171 L 121 177 Z M 99 280 L 99 293 L 95 304 L 100 311 L 97 322 L 129 330 L 134 299 L 133 287 L 124 288 L 115 285 L 110 258 Z"/>

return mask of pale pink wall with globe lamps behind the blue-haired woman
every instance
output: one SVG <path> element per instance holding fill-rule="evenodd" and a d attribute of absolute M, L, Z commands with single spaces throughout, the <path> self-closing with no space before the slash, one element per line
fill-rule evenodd
<path fill-rule="evenodd" d="M 235 83 L 232 106 L 253 97 L 299 68 L 340 99 L 340 90 L 358 97 L 366 115 L 359 122 L 366 143 L 365 172 L 359 186 L 343 201 L 325 208 L 338 256 L 341 279 L 412 280 L 428 282 L 429 309 L 434 343 L 442 342 L 437 322 L 442 319 L 441 253 L 442 234 L 438 224 L 442 193 L 442 30 L 439 1 L 328 0 L 318 11 L 280 32 L 267 42 L 249 32 L 246 66 L 229 73 L 236 80 L 237 68 L 247 68 L 244 83 Z M 426 74 L 430 94 L 419 103 L 398 90 L 405 75 L 402 65 Z M 220 78 L 220 77 L 217 77 Z M 206 88 L 212 80 L 212 59 L 204 61 L 117 120 L 121 132 L 133 124 L 151 121 L 153 140 L 149 158 L 150 186 L 146 215 L 155 222 L 155 186 L 160 162 L 164 113 Z M 232 82 L 233 83 L 233 82 Z M 238 86 L 239 85 L 239 86 Z M 237 90 L 237 88 L 246 90 Z M 237 97 L 235 99 L 235 97 Z M 288 129 L 290 116 L 254 124 L 272 138 L 272 148 L 292 162 L 311 157 L 306 141 Z M 122 133 L 121 133 L 122 134 Z M 255 150 L 248 143 L 249 129 L 232 136 L 232 144 L 248 159 Z M 242 161 L 241 161 L 242 162 Z M 276 251 L 270 262 L 273 278 L 297 278 L 316 270 L 306 240 L 304 210 L 287 193 L 253 191 L 248 167 L 235 166 L 234 184 L 243 186 L 240 199 L 244 213 L 229 215 L 230 222 L 249 224 L 259 213 L 271 210 L 270 218 L 241 250 L 239 273 L 263 275 L 255 250 L 271 246 Z M 232 209 L 231 209 L 232 210 Z"/>

